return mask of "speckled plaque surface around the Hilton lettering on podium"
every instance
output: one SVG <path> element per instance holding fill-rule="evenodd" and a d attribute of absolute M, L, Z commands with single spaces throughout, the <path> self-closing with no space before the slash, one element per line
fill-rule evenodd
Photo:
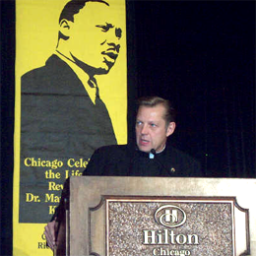
<path fill-rule="evenodd" d="M 186 222 L 177 227 L 158 224 L 155 213 L 163 205 L 182 209 L 186 214 Z M 109 201 L 107 211 L 109 256 L 234 255 L 232 204 L 229 202 L 123 202 L 120 200 Z M 180 214 L 178 218 L 181 218 Z M 161 232 L 163 235 L 166 229 L 168 232 L 172 230 L 172 242 L 168 236 L 168 244 L 144 244 L 144 230 L 156 230 L 156 233 Z M 178 236 L 179 234 L 181 235 Z M 177 236 L 180 243 L 183 243 L 184 237 L 189 234 L 198 235 L 198 244 L 178 244 Z"/>

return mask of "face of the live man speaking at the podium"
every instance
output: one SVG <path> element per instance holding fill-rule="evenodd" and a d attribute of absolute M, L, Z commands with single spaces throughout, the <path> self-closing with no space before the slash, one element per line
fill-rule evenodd
<path fill-rule="evenodd" d="M 166 126 L 163 119 L 165 108 L 159 104 L 154 107 L 141 106 L 136 119 L 136 143 L 140 151 L 150 152 L 155 149 L 160 152 L 175 130 L 175 123 Z"/>

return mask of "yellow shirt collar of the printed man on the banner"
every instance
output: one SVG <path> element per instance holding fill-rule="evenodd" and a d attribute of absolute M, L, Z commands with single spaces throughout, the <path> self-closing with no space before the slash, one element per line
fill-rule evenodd
<path fill-rule="evenodd" d="M 70 68 L 75 72 L 75 74 L 78 76 L 79 80 L 83 84 L 84 88 L 86 89 L 88 95 L 90 96 L 92 102 L 96 104 L 96 83 L 94 81 L 90 80 L 89 75 L 80 68 L 73 60 L 63 55 L 58 50 L 55 51 L 55 54 L 64 62 L 66 62 Z M 88 82 L 90 81 L 91 85 L 93 84 L 94 87 L 90 86 Z"/>

